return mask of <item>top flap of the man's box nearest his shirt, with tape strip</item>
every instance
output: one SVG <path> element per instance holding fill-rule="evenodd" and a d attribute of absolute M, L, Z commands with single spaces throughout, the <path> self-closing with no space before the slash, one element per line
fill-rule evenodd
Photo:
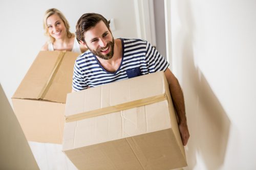
<path fill-rule="evenodd" d="M 69 93 L 66 122 L 108 114 L 167 99 L 163 71 Z"/>

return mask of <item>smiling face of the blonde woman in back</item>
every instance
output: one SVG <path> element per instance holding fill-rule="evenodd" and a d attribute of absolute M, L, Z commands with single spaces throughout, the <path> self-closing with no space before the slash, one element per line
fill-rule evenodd
<path fill-rule="evenodd" d="M 67 36 L 67 30 L 62 19 L 57 15 L 53 14 L 46 20 L 49 34 L 55 39 L 61 39 Z"/>

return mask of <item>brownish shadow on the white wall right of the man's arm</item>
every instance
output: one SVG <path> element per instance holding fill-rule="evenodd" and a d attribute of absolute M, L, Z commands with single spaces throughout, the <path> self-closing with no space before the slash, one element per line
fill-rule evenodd
<path fill-rule="evenodd" d="M 188 69 L 193 61 L 183 63 L 187 119 L 190 131 L 187 161 L 193 169 L 203 160 L 207 169 L 216 170 L 224 163 L 230 120 L 199 69 Z M 188 87 L 189 86 L 189 87 Z M 198 156 L 199 155 L 199 156 Z M 198 158 L 199 159 L 198 159 Z M 196 159 L 197 158 L 197 159 Z"/>

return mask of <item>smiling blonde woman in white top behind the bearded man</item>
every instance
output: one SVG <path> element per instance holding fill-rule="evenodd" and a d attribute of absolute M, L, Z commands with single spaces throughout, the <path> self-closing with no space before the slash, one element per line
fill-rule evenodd
<path fill-rule="evenodd" d="M 47 10 L 44 17 L 44 29 L 50 41 L 42 46 L 41 51 L 85 52 L 87 49 L 78 43 L 75 34 L 71 33 L 69 28 L 68 20 L 59 10 L 55 8 Z"/>

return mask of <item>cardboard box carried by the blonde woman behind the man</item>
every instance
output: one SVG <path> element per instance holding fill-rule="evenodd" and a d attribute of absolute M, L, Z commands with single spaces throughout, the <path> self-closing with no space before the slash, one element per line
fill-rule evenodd
<path fill-rule="evenodd" d="M 41 51 L 12 96 L 14 112 L 30 141 L 61 143 L 67 93 L 79 54 Z"/>

